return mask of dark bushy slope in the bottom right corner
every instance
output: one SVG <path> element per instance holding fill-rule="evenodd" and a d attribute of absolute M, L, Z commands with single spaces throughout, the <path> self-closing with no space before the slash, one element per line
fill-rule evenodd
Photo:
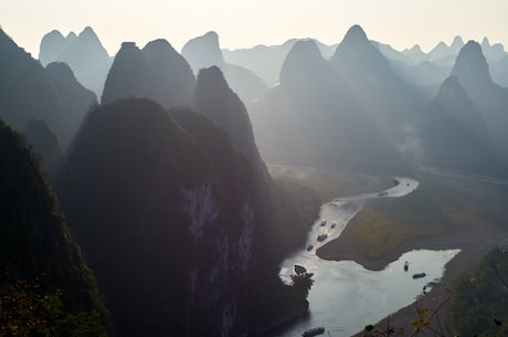
<path fill-rule="evenodd" d="M 462 336 L 508 336 L 508 251 L 490 251 L 458 281 L 452 317 Z"/>

